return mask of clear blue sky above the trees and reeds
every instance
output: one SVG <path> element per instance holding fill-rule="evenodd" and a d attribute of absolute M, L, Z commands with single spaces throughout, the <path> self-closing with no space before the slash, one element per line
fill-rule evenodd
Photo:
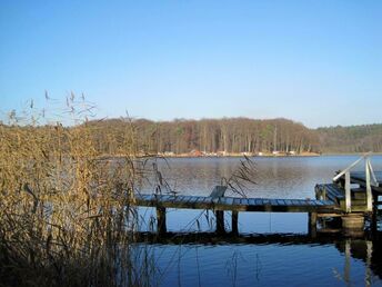
<path fill-rule="evenodd" d="M 382 1 L 0 0 L 0 110 L 382 122 Z"/>

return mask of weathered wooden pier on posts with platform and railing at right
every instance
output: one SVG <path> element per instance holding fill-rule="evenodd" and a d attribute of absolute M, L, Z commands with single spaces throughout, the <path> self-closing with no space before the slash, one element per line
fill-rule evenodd
<path fill-rule="evenodd" d="M 350 170 L 365 159 L 365 171 Z M 217 186 L 210 196 L 135 195 L 134 205 L 157 209 L 159 234 L 167 232 L 167 208 L 207 209 L 217 217 L 217 232 L 224 234 L 224 211 L 232 211 L 232 232 L 238 234 L 240 211 L 255 212 L 306 212 L 309 232 L 315 236 L 320 218 L 341 218 L 342 229 L 359 234 L 364 228 L 364 217 L 372 215 L 376 220 L 378 196 L 382 195 L 382 171 L 374 172 L 365 156 L 338 172 L 332 184 L 315 186 L 315 199 L 237 198 L 224 197 L 227 187 Z M 354 187 L 354 185 L 356 187 Z"/>

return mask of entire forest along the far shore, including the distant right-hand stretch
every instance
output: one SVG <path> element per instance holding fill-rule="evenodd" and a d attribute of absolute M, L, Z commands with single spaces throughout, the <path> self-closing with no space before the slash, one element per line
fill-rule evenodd
<path fill-rule="evenodd" d="M 127 142 L 134 142 L 137 152 L 164 155 L 382 151 L 382 125 L 310 129 L 283 118 L 172 121 L 121 118 L 86 125 L 91 127 L 99 151 L 111 155 L 123 150 Z"/>

